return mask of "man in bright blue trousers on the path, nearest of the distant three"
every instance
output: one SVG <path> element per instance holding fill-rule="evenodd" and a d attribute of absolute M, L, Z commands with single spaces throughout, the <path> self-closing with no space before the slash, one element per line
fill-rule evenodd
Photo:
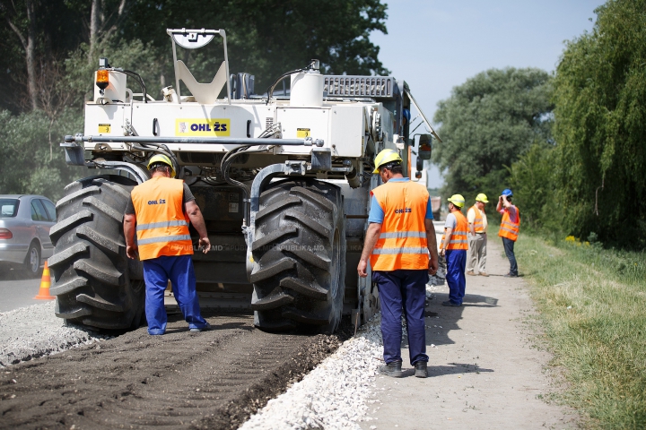
<path fill-rule="evenodd" d="M 449 284 L 449 300 L 442 302 L 443 306 L 462 305 L 465 296 L 467 280 L 465 268 L 467 266 L 467 217 L 462 215 L 464 197 L 453 194 L 449 198 L 449 215 L 444 223 L 444 236 L 441 240 L 441 256 L 446 256 L 447 284 Z"/>

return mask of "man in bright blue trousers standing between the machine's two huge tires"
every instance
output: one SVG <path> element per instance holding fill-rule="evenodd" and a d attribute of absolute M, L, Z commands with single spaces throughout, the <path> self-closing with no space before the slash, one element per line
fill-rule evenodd
<path fill-rule="evenodd" d="M 153 156 L 148 170 L 151 178 L 133 188 L 124 215 L 126 254 L 144 262 L 148 333 L 162 335 L 166 331 L 164 290 L 169 280 L 189 330 L 208 330 L 211 326 L 202 317 L 197 299 L 193 243 L 188 232 L 191 222 L 206 254 L 211 242 L 202 212 L 188 185 L 172 178 L 175 170 L 167 156 Z"/>

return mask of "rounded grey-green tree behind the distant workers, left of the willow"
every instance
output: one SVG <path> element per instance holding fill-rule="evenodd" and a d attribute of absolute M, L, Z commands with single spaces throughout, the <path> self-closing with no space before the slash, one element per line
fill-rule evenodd
<path fill-rule="evenodd" d="M 438 104 L 434 121 L 444 141 L 433 161 L 447 172 L 442 193 L 493 202 L 509 186 L 506 166 L 535 143 L 551 143 L 552 78 L 542 70 L 491 69 L 455 87 Z"/>

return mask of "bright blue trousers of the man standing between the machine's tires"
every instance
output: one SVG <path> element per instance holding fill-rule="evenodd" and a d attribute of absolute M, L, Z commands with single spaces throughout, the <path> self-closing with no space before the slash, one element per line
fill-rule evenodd
<path fill-rule="evenodd" d="M 144 260 L 144 280 L 148 334 L 164 334 L 166 331 L 168 319 L 163 297 L 169 280 L 179 309 L 188 323 L 188 328 L 201 329 L 205 327 L 206 321 L 200 314 L 195 271 L 193 271 L 193 260 L 190 255 L 162 255 Z"/>

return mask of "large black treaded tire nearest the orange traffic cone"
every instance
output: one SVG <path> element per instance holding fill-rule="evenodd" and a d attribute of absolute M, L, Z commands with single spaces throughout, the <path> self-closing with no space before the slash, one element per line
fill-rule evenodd
<path fill-rule="evenodd" d="M 134 330 L 144 318 L 144 271 L 127 258 L 123 213 L 135 181 L 103 175 L 65 187 L 57 202 L 54 276 L 56 315 L 93 329 Z"/>

